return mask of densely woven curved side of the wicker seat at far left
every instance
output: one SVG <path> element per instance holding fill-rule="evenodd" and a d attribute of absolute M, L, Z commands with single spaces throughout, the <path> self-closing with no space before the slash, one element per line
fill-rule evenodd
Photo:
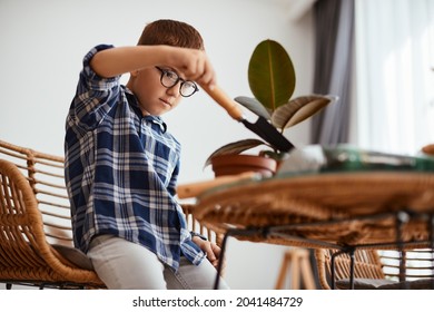
<path fill-rule="evenodd" d="M 16 283 L 105 287 L 91 264 L 83 267 L 67 256 L 75 248 L 66 247 L 66 254 L 48 243 L 29 179 L 6 159 L 0 159 L 0 281 L 8 287 Z"/>

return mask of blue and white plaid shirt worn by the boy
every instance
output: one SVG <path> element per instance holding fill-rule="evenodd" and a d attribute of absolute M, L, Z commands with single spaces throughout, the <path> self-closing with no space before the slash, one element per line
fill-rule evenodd
<path fill-rule="evenodd" d="M 112 234 L 138 243 L 177 270 L 184 254 L 205 257 L 193 243 L 175 196 L 179 143 L 160 117 L 142 116 L 136 97 L 89 66 L 102 49 L 83 59 L 66 123 L 66 184 L 73 240 L 87 252 L 95 235 Z"/>

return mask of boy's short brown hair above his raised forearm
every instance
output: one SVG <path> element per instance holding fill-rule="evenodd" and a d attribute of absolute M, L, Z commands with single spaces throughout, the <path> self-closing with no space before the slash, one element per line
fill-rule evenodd
<path fill-rule="evenodd" d="M 161 19 L 148 23 L 141 32 L 138 46 L 167 45 L 204 50 L 200 33 L 190 25 Z"/>

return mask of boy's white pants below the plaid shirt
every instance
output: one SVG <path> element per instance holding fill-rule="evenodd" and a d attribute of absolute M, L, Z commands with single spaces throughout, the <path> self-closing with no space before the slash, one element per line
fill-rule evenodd
<path fill-rule="evenodd" d="M 211 290 L 217 275 L 208 260 L 194 265 L 184 256 L 174 272 L 151 251 L 114 235 L 95 237 L 88 256 L 112 290 Z M 220 280 L 219 289 L 228 289 L 225 281 Z"/>

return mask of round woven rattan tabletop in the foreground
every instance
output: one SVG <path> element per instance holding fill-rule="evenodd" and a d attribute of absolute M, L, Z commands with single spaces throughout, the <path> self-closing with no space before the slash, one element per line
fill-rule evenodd
<path fill-rule="evenodd" d="M 195 216 L 217 231 L 282 226 L 282 235 L 240 240 L 320 247 L 396 242 L 423 247 L 426 217 L 434 213 L 434 174 L 411 172 L 329 173 L 243 182 L 204 193 Z M 260 235 L 259 235 L 260 236 Z M 294 236 L 295 240 L 287 237 Z"/>

